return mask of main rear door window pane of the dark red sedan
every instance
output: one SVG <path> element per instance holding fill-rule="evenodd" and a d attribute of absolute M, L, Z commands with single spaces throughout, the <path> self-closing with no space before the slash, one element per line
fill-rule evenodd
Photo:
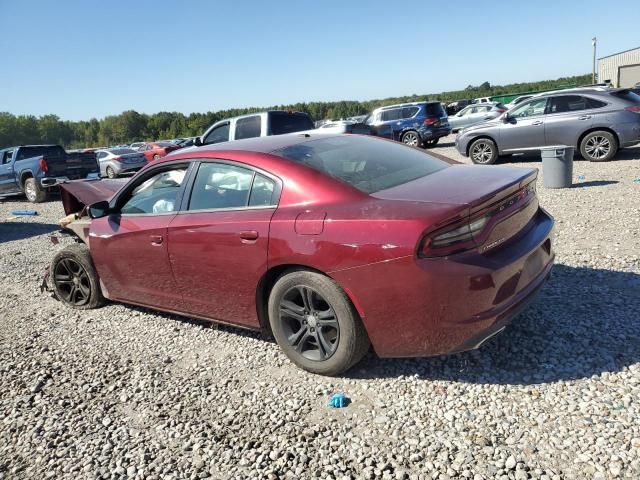
<path fill-rule="evenodd" d="M 249 202 L 253 171 L 225 163 L 202 163 L 193 184 L 189 210 L 242 208 Z"/>

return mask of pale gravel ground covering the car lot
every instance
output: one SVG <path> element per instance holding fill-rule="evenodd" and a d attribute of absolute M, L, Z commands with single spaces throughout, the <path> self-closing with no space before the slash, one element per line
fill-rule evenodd
<path fill-rule="evenodd" d="M 38 288 L 60 202 L 0 202 L 0 479 L 640 478 L 640 148 L 620 158 L 539 183 L 557 266 L 502 335 L 336 379 L 259 334 L 62 307 Z"/>

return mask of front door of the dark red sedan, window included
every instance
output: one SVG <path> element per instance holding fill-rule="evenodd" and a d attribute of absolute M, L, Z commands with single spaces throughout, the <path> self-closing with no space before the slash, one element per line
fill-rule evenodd
<path fill-rule="evenodd" d="M 114 201 L 114 213 L 92 220 L 89 245 L 109 298 L 183 310 L 167 229 L 179 208 L 186 171 L 186 165 L 150 170 Z"/>

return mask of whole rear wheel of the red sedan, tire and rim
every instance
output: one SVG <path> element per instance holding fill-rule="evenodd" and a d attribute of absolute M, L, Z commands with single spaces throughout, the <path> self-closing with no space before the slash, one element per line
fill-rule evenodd
<path fill-rule="evenodd" d="M 349 369 L 370 345 L 344 291 L 315 272 L 291 272 L 276 282 L 269 296 L 269 324 L 293 363 L 321 375 Z"/>

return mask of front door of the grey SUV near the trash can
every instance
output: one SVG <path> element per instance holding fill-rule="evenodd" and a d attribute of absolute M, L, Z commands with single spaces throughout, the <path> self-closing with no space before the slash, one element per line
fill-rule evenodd
<path fill-rule="evenodd" d="M 500 127 L 500 150 L 518 151 L 543 147 L 546 106 L 546 98 L 536 98 L 509 112 L 508 122 Z"/>

